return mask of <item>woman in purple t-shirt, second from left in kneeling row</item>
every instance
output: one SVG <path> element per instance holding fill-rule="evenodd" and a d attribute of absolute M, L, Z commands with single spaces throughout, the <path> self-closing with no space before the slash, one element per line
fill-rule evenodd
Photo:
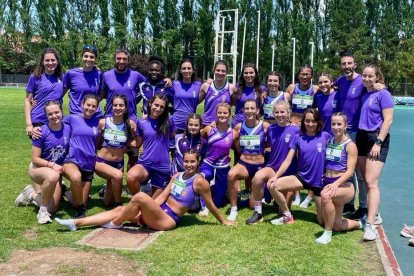
<path fill-rule="evenodd" d="M 69 153 L 63 165 L 64 175 L 70 181 L 75 217 L 85 216 L 85 205 L 95 171 L 96 143 L 99 116 L 96 114 L 98 98 L 87 94 L 82 101 L 83 111 L 65 118 L 70 127 Z"/>

